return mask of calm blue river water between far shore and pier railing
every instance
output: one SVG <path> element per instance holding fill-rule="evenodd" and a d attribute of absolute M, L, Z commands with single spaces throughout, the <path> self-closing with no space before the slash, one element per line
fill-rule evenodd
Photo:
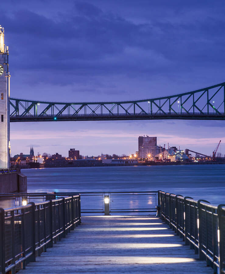
<path fill-rule="evenodd" d="M 225 203 L 225 165 L 24 169 L 28 192 L 156 191 Z"/>

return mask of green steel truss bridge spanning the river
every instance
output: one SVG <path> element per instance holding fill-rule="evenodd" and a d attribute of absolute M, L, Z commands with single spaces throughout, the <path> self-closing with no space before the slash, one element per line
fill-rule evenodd
<path fill-rule="evenodd" d="M 225 82 L 145 100 L 45 102 L 10 98 L 10 122 L 101 120 L 225 120 Z"/>

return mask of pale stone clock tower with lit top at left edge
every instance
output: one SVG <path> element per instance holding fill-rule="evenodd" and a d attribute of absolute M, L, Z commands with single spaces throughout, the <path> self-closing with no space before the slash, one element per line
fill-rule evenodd
<path fill-rule="evenodd" d="M 0 168 L 10 167 L 9 80 L 9 48 L 5 47 L 4 28 L 0 25 Z"/>

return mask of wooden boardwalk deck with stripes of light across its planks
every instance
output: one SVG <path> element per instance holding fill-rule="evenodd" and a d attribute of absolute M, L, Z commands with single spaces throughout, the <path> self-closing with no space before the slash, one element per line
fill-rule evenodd
<path fill-rule="evenodd" d="M 20 274 L 204 273 L 206 262 L 160 219 L 148 216 L 88 216 Z"/>

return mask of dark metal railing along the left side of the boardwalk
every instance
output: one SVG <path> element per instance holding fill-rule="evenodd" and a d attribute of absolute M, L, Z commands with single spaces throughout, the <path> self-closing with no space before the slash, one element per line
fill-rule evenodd
<path fill-rule="evenodd" d="M 80 195 L 0 208 L 0 273 L 25 269 L 80 222 Z"/>

